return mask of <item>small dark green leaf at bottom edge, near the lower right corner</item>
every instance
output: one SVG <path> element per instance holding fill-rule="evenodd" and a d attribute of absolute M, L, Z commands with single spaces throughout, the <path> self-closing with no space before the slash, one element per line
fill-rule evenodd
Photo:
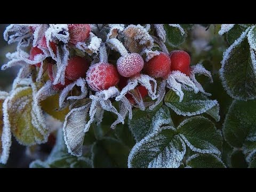
<path fill-rule="evenodd" d="M 234 150 L 230 160 L 232 168 L 247 168 L 247 163 L 242 150 Z"/>

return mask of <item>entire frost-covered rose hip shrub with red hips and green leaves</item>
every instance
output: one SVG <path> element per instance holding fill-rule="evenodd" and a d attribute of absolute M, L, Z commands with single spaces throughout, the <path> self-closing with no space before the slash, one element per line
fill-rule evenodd
<path fill-rule="evenodd" d="M 255 25 L 12 24 L 4 39 L 2 70 L 20 71 L 0 92 L 2 164 L 13 135 L 29 167 L 256 167 Z"/>

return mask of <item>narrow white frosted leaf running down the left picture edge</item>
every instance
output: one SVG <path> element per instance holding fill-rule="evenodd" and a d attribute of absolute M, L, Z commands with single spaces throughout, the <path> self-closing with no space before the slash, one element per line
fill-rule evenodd
<path fill-rule="evenodd" d="M 11 147 L 11 130 L 6 121 L 6 105 L 9 93 L 0 91 L 0 163 L 6 164 Z"/>

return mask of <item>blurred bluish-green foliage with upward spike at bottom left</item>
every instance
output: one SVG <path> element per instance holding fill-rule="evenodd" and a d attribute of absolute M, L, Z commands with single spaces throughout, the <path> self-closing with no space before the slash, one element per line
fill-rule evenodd
<path fill-rule="evenodd" d="M 92 161 L 86 157 L 75 157 L 68 153 L 65 141 L 63 140 L 63 132 L 58 130 L 57 140 L 51 154 L 46 161 L 36 160 L 29 165 L 30 168 L 88 168 L 92 167 Z"/>

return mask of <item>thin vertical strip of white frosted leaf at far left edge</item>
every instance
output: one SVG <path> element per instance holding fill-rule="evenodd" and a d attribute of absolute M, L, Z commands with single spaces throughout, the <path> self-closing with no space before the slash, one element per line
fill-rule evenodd
<path fill-rule="evenodd" d="M 7 95 L 4 92 L 1 92 L 1 98 L 5 98 Z M 1 99 L 0 98 L 0 99 Z M 1 141 L 2 141 L 2 154 L 0 154 L 0 163 L 6 164 L 8 158 L 9 158 L 9 153 L 10 153 L 10 147 L 12 145 L 12 140 L 11 140 L 11 126 L 9 123 L 9 115 L 7 113 L 7 103 L 9 101 L 9 97 L 7 97 L 4 102 L 3 102 L 3 132 L 1 136 Z"/>

